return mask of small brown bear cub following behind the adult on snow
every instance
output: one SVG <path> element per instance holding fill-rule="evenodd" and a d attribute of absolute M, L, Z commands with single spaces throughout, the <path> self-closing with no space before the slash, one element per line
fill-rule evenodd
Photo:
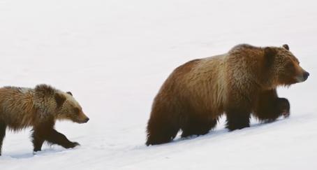
<path fill-rule="evenodd" d="M 54 129 L 56 120 L 84 123 L 89 120 L 80 104 L 68 92 L 50 85 L 0 88 L 0 155 L 6 128 L 18 131 L 32 129 L 34 151 L 41 150 L 43 142 L 74 148 L 79 143 L 69 141 Z"/>

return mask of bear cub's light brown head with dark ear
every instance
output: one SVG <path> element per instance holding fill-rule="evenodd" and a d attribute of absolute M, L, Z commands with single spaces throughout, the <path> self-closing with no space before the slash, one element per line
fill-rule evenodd
<path fill-rule="evenodd" d="M 88 122 L 89 118 L 84 114 L 82 107 L 71 92 L 55 92 L 54 99 L 57 104 L 57 119 L 72 120 L 78 123 Z"/>

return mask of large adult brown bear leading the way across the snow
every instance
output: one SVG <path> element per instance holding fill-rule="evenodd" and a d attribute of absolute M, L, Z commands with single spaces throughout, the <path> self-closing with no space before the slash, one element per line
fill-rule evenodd
<path fill-rule="evenodd" d="M 154 99 L 147 124 L 147 146 L 207 134 L 226 113 L 232 131 L 249 127 L 251 113 L 263 122 L 288 116 L 290 104 L 277 96 L 309 76 L 298 59 L 283 47 L 242 44 L 228 53 L 195 59 L 171 73 Z"/>

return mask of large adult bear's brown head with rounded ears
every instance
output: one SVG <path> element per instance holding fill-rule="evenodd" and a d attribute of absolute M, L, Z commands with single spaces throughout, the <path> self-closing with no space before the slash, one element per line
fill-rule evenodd
<path fill-rule="evenodd" d="M 307 80 L 309 73 L 302 69 L 298 59 L 290 52 L 288 45 L 281 48 L 266 47 L 265 71 L 269 74 L 270 87 L 289 86 Z"/>

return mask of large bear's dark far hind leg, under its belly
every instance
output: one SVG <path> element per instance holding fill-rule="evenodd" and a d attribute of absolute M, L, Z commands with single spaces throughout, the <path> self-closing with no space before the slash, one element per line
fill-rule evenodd
<path fill-rule="evenodd" d="M 206 118 L 190 117 L 184 127 L 182 127 L 182 138 L 191 135 L 207 134 L 210 129 L 216 126 L 217 120 L 206 120 Z"/>

